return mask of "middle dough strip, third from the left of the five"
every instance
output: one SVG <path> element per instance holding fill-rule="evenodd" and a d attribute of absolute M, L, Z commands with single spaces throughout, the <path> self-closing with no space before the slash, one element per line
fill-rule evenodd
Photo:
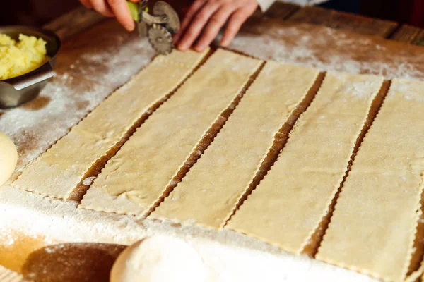
<path fill-rule="evenodd" d="M 267 62 L 212 144 L 151 217 L 221 228 L 318 74 Z"/>

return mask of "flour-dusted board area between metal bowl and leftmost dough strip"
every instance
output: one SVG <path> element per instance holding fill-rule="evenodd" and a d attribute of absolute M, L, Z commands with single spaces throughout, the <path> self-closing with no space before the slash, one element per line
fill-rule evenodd
<path fill-rule="evenodd" d="M 83 54 L 66 66 L 67 70 L 59 71 L 32 102 L 0 110 L 0 131 L 11 137 L 19 154 L 11 179 L 153 58 L 146 39 L 131 37 L 123 44 L 122 37 L 117 38 L 113 46 L 97 54 Z M 122 44 L 118 51 L 117 42 Z M 63 65 L 61 59 L 59 53 L 59 66 Z"/>

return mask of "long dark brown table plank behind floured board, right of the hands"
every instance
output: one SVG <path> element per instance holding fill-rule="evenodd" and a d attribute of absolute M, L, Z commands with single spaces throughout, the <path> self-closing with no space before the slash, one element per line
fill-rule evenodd
<path fill-rule="evenodd" d="M 389 20 L 379 20 L 312 6 L 301 8 L 289 19 L 380 37 L 388 37 L 398 26 L 397 23 Z"/>

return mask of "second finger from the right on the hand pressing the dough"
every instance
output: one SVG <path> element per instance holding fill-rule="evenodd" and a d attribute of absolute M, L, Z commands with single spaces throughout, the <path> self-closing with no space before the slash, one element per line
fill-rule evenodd
<path fill-rule="evenodd" d="M 199 42 L 194 47 L 196 51 L 204 51 L 211 44 L 233 11 L 234 8 L 231 6 L 223 6 L 209 19 Z"/>

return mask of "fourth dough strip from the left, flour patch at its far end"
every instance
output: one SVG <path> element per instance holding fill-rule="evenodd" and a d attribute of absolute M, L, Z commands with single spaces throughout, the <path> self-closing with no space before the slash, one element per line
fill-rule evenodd
<path fill-rule="evenodd" d="M 338 190 L 382 82 L 326 73 L 278 160 L 225 228 L 299 254 Z"/>

